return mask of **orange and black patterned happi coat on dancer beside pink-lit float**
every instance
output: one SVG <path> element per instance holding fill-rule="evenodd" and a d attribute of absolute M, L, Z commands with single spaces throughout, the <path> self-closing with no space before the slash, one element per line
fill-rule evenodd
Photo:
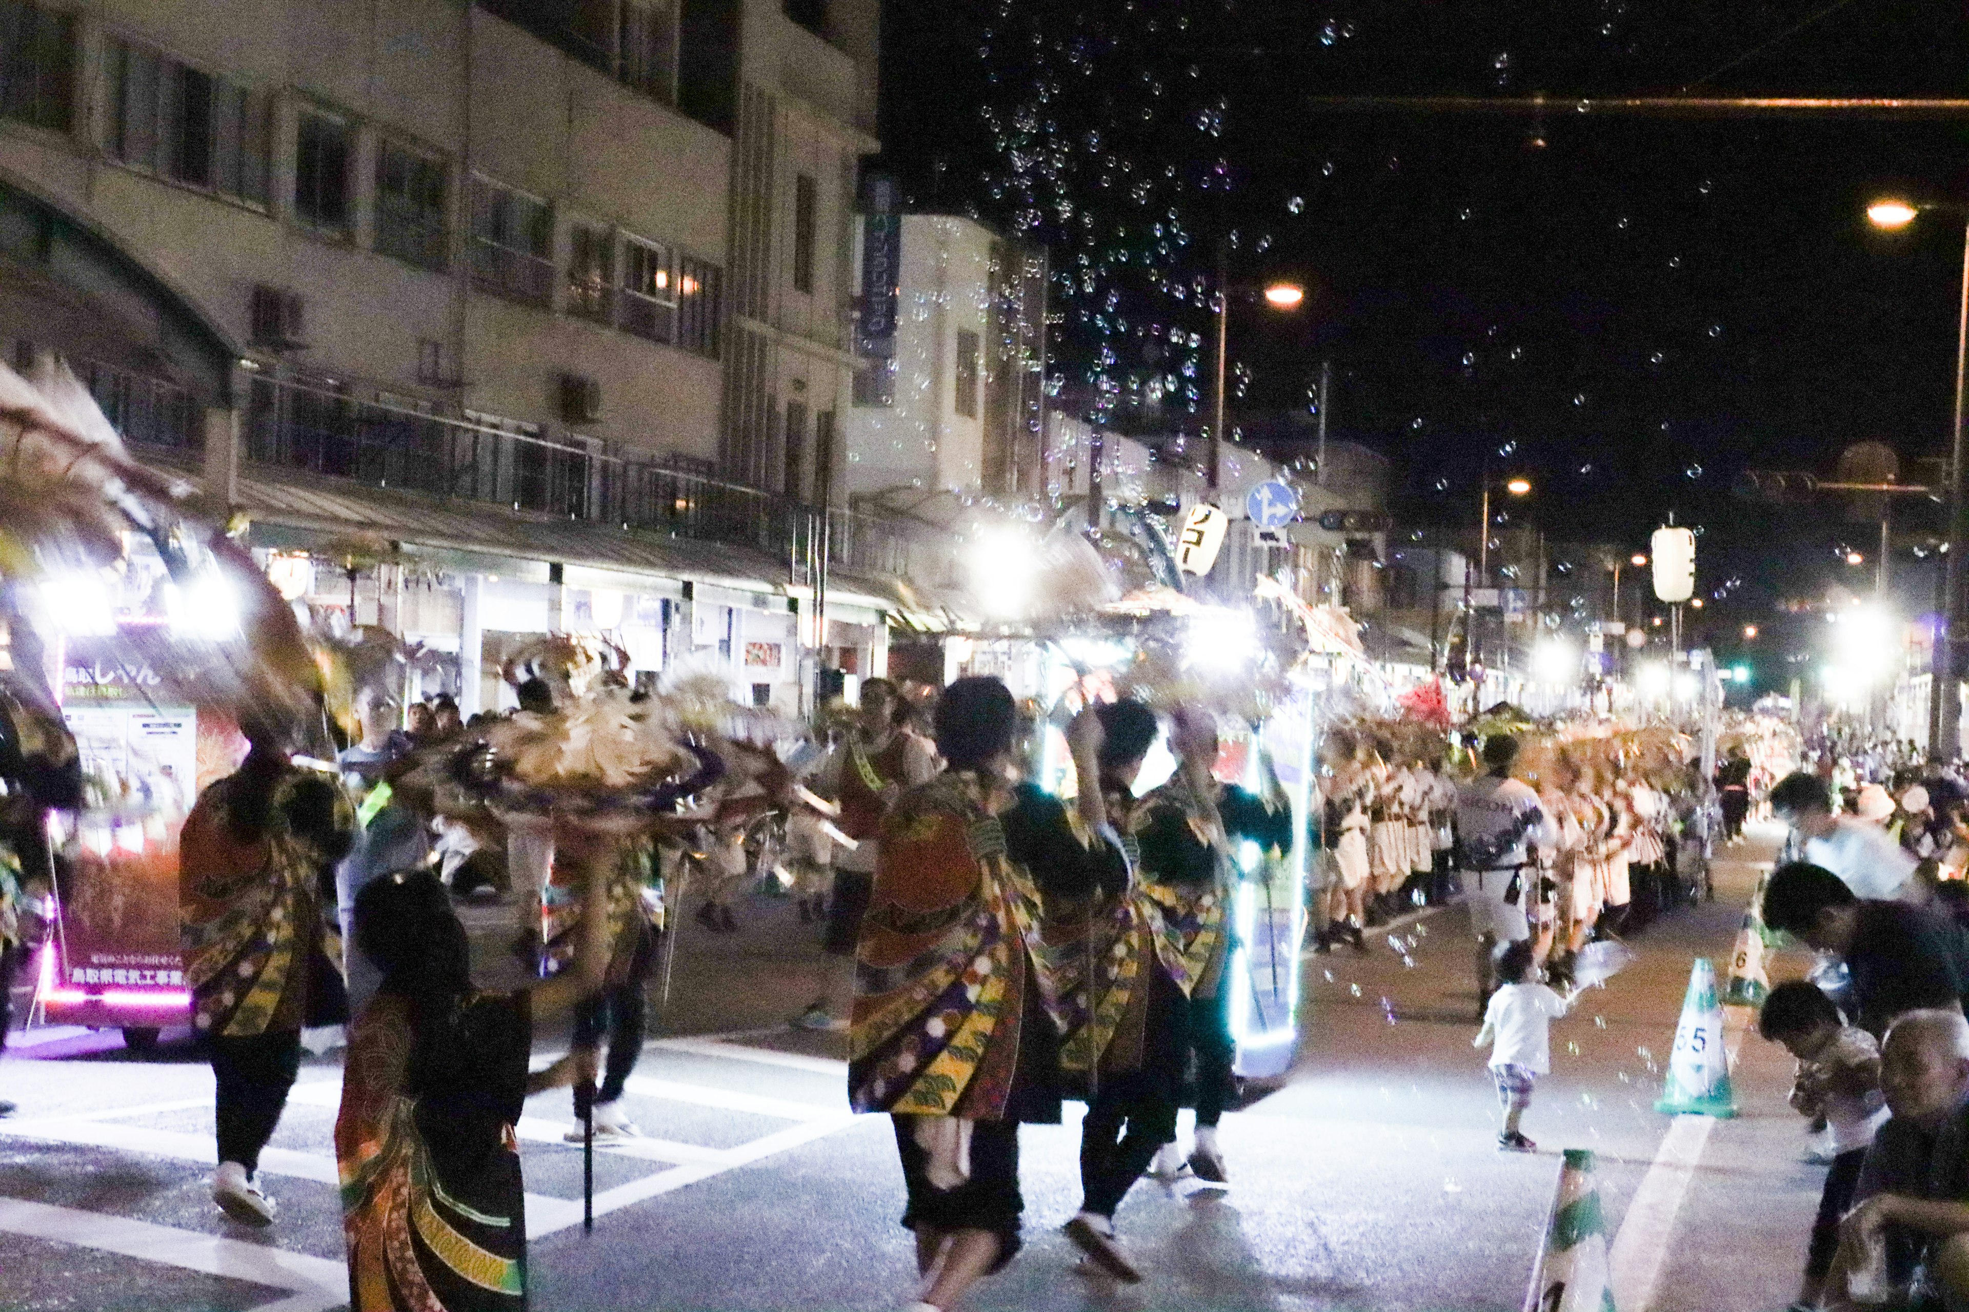
<path fill-rule="evenodd" d="M 289 769 L 274 785 L 266 834 L 238 842 L 230 830 L 238 775 L 205 791 L 179 838 L 179 942 L 193 1025 L 205 1035 L 246 1039 L 301 1029 L 309 954 L 341 962 L 341 934 L 323 915 L 321 852 L 287 826 L 293 789 L 309 781 Z M 354 824 L 337 789 L 337 822 Z"/>

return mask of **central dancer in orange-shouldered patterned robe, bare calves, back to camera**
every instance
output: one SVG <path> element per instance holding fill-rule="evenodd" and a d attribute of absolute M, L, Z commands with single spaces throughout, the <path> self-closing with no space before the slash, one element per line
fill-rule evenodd
<path fill-rule="evenodd" d="M 1008 783 L 1002 683 L 959 679 L 935 722 L 947 771 L 882 820 L 849 1037 L 849 1102 L 894 1119 L 923 1277 L 914 1312 L 945 1312 L 1018 1251 L 1018 1127 L 1059 1119 L 1071 982 L 1055 972 L 1077 952 L 1046 934 L 1057 913 L 1085 936 L 1095 895 L 1128 879 L 1101 789 L 1069 812 Z M 1081 712 L 1067 742 L 1079 777 L 1097 779 L 1101 720 Z"/>

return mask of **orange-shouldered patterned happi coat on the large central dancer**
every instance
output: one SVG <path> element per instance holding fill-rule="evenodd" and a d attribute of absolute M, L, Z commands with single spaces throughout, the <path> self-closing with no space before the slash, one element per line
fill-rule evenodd
<path fill-rule="evenodd" d="M 857 1111 L 1004 1119 L 1040 893 L 1006 854 L 975 775 L 904 793 L 882 820 L 874 899 L 855 958 L 849 1100 Z"/>

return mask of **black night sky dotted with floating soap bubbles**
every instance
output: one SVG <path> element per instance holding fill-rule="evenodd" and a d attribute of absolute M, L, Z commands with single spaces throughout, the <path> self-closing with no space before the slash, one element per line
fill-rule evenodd
<path fill-rule="evenodd" d="M 1229 240 L 1235 281 L 1315 291 L 1292 319 L 1244 311 L 1233 421 L 1305 409 L 1329 356 L 1331 433 L 1394 456 L 1410 515 L 1473 519 L 1485 452 L 1536 478 L 1518 509 L 1556 539 L 1642 547 L 1676 511 L 1729 592 L 1717 627 L 1871 584 L 1876 527 L 1745 504 L 1741 468 L 1831 474 L 1878 439 L 1916 480 L 1945 450 L 1961 228 L 1882 236 L 1863 209 L 1969 199 L 1969 122 L 1307 96 L 1961 96 L 1959 2 L 890 0 L 884 22 L 882 167 L 914 209 L 1051 250 L 1067 382 L 1160 380 L 1207 413 L 1199 279 Z"/>

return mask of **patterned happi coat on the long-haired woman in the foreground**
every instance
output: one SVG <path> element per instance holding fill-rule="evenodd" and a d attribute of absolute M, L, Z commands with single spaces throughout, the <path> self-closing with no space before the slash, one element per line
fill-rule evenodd
<path fill-rule="evenodd" d="M 475 1052 L 482 1070 L 518 1072 L 524 1100 L 530 1027 L 524 995 L 467 1001 L 480 1013 Z M 335 1159 L 343 1188 L 350 1312 L 524 1312 L 526 1194 L 512 1125 L 494 1143 L 441 1157 L 425 1139 L 417 1098 L 406 1088 L 410 1007 L 378 993 L 349 1037 Z"/>

